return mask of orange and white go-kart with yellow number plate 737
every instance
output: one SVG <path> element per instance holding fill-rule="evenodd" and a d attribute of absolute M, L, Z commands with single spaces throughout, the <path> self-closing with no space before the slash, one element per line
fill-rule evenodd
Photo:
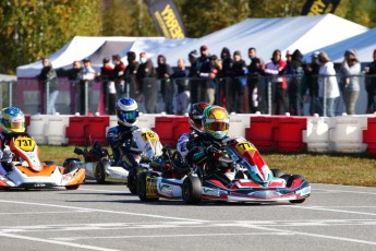
<path fill-rule="evenodd" d="M 0 188 L 43 189 L 65 187 L 75 190 L 85 178 L 85 169 L 63 168 L 53 162 L 40 162 L 38 146 L 26 133 L 5 139 L 13 153 L 12 162 L 2 162 L 7 174 L 0 174 Z"/>

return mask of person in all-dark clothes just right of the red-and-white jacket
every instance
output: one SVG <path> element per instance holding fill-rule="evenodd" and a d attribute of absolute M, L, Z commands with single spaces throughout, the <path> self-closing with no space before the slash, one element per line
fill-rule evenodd
<path fill-rule="evenodd" d="M 289 111 L 291 115 L 303 115 L 303 100 L 302 100 L 302 76 L 303 76 L 303 55 L 296 49 L 291 55 L 291 59 L 288 60 L 284 68 L 284 74 L 288 80 L 288 93 L 289 93 Z"/>

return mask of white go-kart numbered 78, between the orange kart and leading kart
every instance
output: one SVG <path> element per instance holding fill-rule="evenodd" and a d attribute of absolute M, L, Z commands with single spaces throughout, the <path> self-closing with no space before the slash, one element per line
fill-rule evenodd
<path fill-rule="evenodd" d="M 129 153 L 132 162 L 137 163 L 136 167 L 130 167 L 129 160 L 122 157 L 120 163 L 114 163 L 113 156 L 99 142 L 95 142 L 90 150 L 75 147 L 74 153 L 84 156 L 80 158 L 68 158 L 64 166 L 78 166 L 86 170 L 85 180 L 96 180 L 98 183 L 123 182 L 132 193 L 136 193 L 136 179 L 138 170 L 147 169 L 148 163 L 156 156 L 161 155 L 161 144 L 158 134 L 145 128 L 132 132 L 133 140 L 124 142 L 123 153 Z"/>

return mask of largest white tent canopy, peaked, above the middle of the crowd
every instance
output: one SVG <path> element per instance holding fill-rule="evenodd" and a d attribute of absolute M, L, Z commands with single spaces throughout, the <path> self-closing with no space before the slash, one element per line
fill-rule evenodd
<path fill-rule="evenodd" d="M 257 56 L 268 61 L 275 49 L 293 51 L 300 49 L 302 53 L 316 50 L 324 46 L 338 43 L 366 32 L 365 26 L 341 19 L 333 14 L 247 19 L 230 27 L 220 29 L 185 46 L 180 46 L 165 52 L 170 64 L 179 58 L 186 59 L 190 51 L 206 45 L 211 55 L 220 56 L 223 47 L 230 52 L 240 50 L 243 59 L 247 59 L 250 47 L 257 49 Z"/>

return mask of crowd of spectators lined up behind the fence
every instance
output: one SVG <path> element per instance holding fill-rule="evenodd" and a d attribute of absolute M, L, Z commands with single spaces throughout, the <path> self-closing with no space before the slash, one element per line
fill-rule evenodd
<path fill-rule="evenodd" d="M 299 49 L 288 50 L 286 55 L 276 49 L 270 59 L 264 61 L 257 57 L 256 48 L 251 47 L 247 57 L 244 59 L 238 50 L 231 53 L 227 47 L 217 57 L 203 45 L 198 52 L 194 50 L 187 55 L 187 65 L 181 58 L 177 68 L 172 68 L 163 55 L 157 57 L 157 65 L 154 65 L 146 52 L 141 52 L 137 60 L 134 51 L 128 52 L 128 64 L 119 55 L 113 55 L 112 60 L 104 58 L 99 72 L 94 71 L 88 59 L 83 60 L 83 67 L 80 61 L 74 61 L 72 69 L 65 72 L 71 83 L 70 110 L 71 113 L 87 112 L 90 88 L 97 81 L 101 83 L 99 106 L 108 115 L 116 113 L 116 100 L 125 96 L 143 104 L 146 113 L 184 115 L 190 104 L 205 101 L 236 113 L 259 111 L 329 117 L 336 116 L 342 97 L 345 112 L 354 115 L 360 76 L 365 73 L 365 112 L 376 111 L 376 50 L 374 61 L 363 70 L 353 49 L 344 51 L 343 62 L 337 71 L 324 51 L 313 52 L 310 62 L 303 61 Z M 43 62 L 44 69 L 37 79 L 51 81 L 48 72 L 52 68 L 49 61 L 46 65 Z M 51 83 L 50 92 L 54 93 L 50 95 L 50 103 L 53 104 L 48 107 L 48 113 L 54 112 L 56 73 Z M 162 107 L 158 107 L 158 95 Z"/>

